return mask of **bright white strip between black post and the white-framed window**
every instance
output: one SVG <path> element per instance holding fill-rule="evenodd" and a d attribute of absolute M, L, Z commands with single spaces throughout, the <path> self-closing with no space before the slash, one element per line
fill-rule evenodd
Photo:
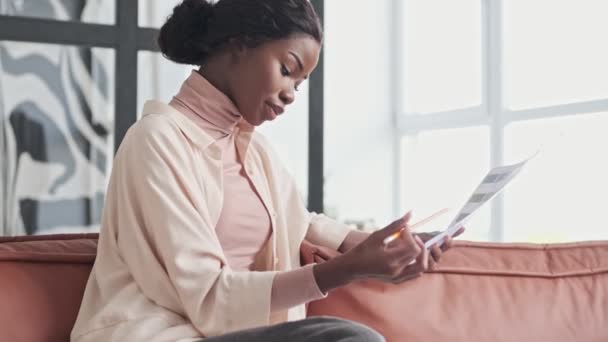
<path fill-rule="evenodd" d="M 394 219 L 392 0 L 325 2 L 325 213 L 361 229 Z"/>

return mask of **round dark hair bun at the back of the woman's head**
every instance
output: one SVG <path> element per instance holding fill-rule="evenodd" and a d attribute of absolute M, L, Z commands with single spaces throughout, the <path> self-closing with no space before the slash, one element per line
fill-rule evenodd
<path fill-rule="evenodd" d="M 184 0 L 160 28 L 158 46 L 168 59 L 198 65 L 209 53 L 206 41 L 213 4 L 207 0 Z"/>

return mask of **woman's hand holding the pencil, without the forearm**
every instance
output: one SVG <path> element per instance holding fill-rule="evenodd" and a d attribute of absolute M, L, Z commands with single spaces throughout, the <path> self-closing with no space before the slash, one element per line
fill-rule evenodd
<path fill-rule="evenodd" d="M 354 279 L 374 278 L 396 284 L 427 270 L 429 252 L 422 240 L 410 232 L 410 217 L 408 212 L 342 255 L 342 262 L 353 272 Z M 397 239 L 384 244 L 384 239 L 399 231 Z"/>

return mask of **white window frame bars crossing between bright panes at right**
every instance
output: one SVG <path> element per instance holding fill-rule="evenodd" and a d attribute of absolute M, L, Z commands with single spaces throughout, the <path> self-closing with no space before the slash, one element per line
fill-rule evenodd
<path fill-rule="evenodd" d="M 514 122 L 529 121 L 536 119 L 558 118 L 572 115 L 588 115 L 602 111 L 608 111 L 608 97 L 605 99 L 571 102 L 560 105 L 542 106 L 536 108 L 512 110 L 504 105 L 504 70 L 503 70 L 503 8 L 504 0 L 479 0 L 481 2 L 481 104 L 457 110 L 414 114 L 404 110 L 399 96 L 405 93 L 404 82 L 400 75 L 404 75 L 402 61 L 407 55 L 407 46 L 404 39 L 402 22 L 403 1 L 394 0 L 394 23 L 395 23 L 395 80 L 393 88 L 395 92 L 393 106 L 395 108 L 396 138 L 394 149 L 396 151 L 394 163 L 395 181 L 395 215 L 405 205 L 411 207 L 411 203 L 401 203 L 399 191 L 402 188 L 401 165 L 407 165 L 402 161 L 401 139 L 413 136 L 423 131 L 436 129 L 464 128 L 471 126 L 486 126 L 490 129 L 490 164 L 496 167 L 504 164 L 505 137 L 504 132 L 507 125 Z M 492 241 L 504 240 L 504 195 L 499 194 L 494 198 L 491 205 L 490 239 Z"/>

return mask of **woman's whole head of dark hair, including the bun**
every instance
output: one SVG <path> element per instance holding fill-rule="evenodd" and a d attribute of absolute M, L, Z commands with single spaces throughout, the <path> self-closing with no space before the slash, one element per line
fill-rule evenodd
<path fill-rule="evenodd" d="M 176 63 L 201 65 L 228 42 L 253 48 L 294 34 L 323 40 L 308 0 L 184 0 L 161 27 L 158 45 Z"/>

